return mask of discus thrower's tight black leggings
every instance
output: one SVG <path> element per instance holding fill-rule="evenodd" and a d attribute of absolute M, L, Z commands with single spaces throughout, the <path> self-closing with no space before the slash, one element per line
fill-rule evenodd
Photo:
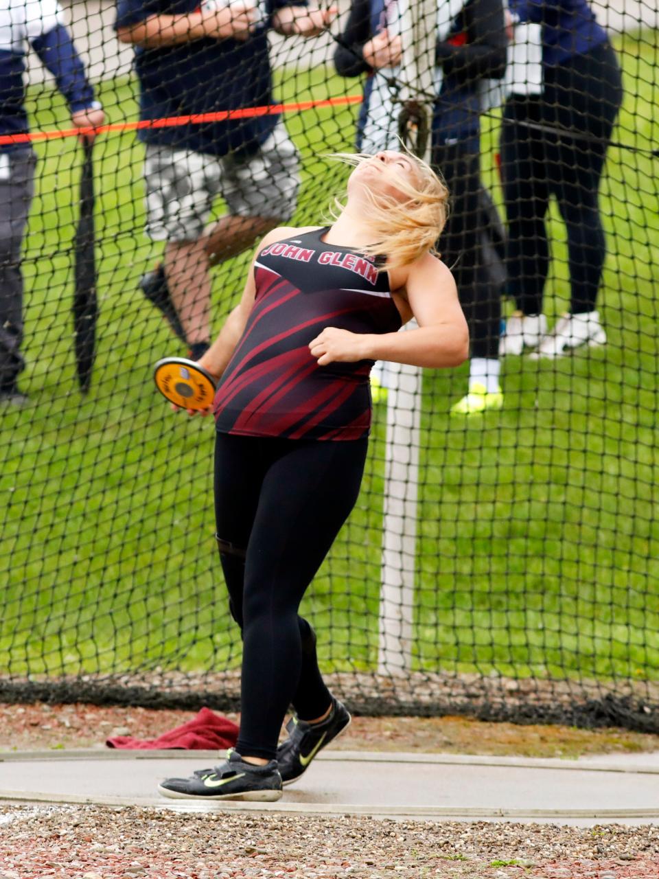
<path fill-rule="evenodd" d="M 298 607 L 357 501 L 367 445 L 217 434 L 218 545 L 243 635 L 243 755 L 275 756 L 291 704 L 303 720 L 329 708 L 315 634 Z"/>

